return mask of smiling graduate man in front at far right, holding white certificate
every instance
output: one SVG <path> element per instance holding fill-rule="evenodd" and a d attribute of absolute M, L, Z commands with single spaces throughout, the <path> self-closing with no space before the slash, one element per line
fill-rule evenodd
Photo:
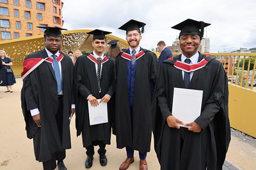
<path fill-rule="evenodd" d="M 155 149 L 161 169 L 222 169 L 230 142 L 228 120 L 228 84 L 223 64 L 198 52 L 204 27 L 210 24 L 185 20 L 173 26 L 180 30 L 182 53 L 163 62 L 157 80 Z M 175 91 L 200 90 L 201 103 L 183 98 L 179 110 L 199 106 L 200 116 L 182 122 L 174 113 Z M 174 99 L 175 98 L 175 99 Z M 193 103 L 193 104 L 191 104 Z M 189 105 L 189 106 L 188 106 Z M 186 113 L 186 115 L 191 113 Z"/>

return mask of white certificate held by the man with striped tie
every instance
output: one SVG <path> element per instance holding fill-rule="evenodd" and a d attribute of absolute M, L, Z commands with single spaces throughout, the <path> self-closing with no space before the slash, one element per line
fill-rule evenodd
<path fill-rule="evenodd" d="M 100 99 L 97 99 L 99 105 L 94 107 L 88 101 L 89 120 L 90 125 L 108 123 L 108 105 L 105 102 L 100 103 Z"/>

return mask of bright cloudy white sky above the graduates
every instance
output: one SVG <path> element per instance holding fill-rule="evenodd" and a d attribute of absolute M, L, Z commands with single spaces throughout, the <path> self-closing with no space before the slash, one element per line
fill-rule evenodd
<path fill-rule="evenodd" d="M 173 25 L 191 18 L 210 23 L 205 38 L 210 52 L 256 47 L 255 0 L 62 0 L 63 28 L 102 29 L 125 39 L 118 27 L 134 19 L 144 22 L 141 47 L 152 50 L 159 41 L 167 46 L 179 36 Z M 254 16 L 254 17 L 253 17 Z"/>

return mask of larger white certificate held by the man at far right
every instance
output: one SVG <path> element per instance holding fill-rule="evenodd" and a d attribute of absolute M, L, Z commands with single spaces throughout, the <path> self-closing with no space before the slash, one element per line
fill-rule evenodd
<path fill-rule="evenodd" d="M 178 118 L 184 124 L 194 122 L 201 113 L 202 97 L 202 90 L 174 88 L 172 105 L 173 117 Z M 184 125 L 180 126 L 186 127 Z"/>

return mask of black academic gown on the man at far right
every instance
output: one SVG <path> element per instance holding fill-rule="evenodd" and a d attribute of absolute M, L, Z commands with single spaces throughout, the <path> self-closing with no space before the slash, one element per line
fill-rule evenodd
<path fill-rule="evenodd" d="M 200 53 L 198 61 L 205 58 Z M 194 72 L 188 89 L 203 90 L 202 112 L 195 122 L 200 133 L 168 127 L 166 117 L 172 115 L 173 88 L 184 88 L 182 71 L 173 66 L 175 60 L 165 60 L 157 80 L 157 101 L 154 140 L 161 169 L 222 169 L 230 142 L 228 120 L 228 84 L 223 65 L 207 57 L 205 67 Z M 186 107 L 186 104 L 184 105 Z M 180 140 L 181 135 L 184 142 Z M 182 150 L 181 150 L 182 148 Z"/>

